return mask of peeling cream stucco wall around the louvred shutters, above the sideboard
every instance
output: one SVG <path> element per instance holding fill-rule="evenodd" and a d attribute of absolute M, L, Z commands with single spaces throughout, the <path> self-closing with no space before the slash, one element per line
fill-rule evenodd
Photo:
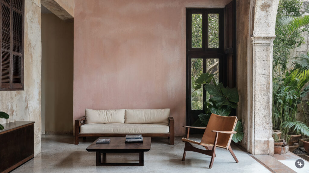
<path fill-rule="evenodd" d="M 25 1 L 24 91 L 0 91 L 0 111 L 10 114 L 1 123 L 35 121 L 34 154 L 41 152 L 41 4 Z"/>

